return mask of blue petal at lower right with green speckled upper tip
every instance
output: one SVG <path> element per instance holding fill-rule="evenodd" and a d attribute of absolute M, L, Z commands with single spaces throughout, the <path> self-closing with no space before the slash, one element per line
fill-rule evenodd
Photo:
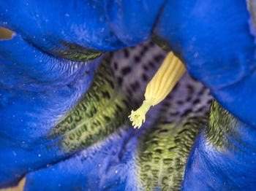
<path fill-rule="evenodd" d="M 255 190 L 256 131 L 216 103 L 190 153 L 182 190 Z"/>

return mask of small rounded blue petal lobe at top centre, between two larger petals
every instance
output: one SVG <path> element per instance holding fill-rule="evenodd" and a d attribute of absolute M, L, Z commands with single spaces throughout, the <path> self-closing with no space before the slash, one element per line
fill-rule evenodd
<path fill-rule="evenodd" d="M 144 42 L 151 36 L 165 1 L 105 0 L 105 10 L 118 39 L 128 46 Z"/>

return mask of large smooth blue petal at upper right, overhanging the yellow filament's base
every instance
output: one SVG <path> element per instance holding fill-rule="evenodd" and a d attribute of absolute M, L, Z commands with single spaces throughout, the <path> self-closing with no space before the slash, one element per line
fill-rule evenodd
<path fill-rule="evenodd" d="M 225 109 L 256 126 L 255 36 L 249 20 L 246 1 L 168 1 L 154 36 L 181 56 Z"/>

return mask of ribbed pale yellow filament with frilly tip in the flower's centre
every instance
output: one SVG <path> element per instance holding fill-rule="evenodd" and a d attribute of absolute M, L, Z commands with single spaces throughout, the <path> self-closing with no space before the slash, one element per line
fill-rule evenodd
<path fill-rule="evenodd" d="M 134 128 L 140 128 L 143 122 L 145 122 L 148 109 L 165 99 L 185 71 L 184 64 L 173 52 L 169 52 L 165 57 L 165 61 L 162 62 L 157 73 L 147 85 L 143 104 L 136 111 L 132 110 L 129 115 L 129 120 L 132 121 Z"/>

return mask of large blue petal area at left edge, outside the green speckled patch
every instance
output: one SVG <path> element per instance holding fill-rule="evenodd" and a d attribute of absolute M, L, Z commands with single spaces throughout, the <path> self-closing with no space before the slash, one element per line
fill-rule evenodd
<path fill-rule="evenodd" d="M 99 60 L 51 57 L 19 36 L 0 41 L 0 50 L 0 187 L 5 187 L 67 156 L 46 136 L 86 92 Z"/>

